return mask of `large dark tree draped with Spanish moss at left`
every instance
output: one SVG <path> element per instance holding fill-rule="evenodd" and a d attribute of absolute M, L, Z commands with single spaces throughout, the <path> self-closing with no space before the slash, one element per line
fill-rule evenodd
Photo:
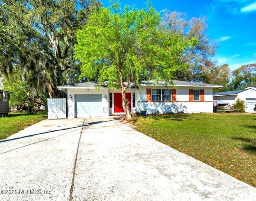
<path fill-rule="evenodd" d="M 17 65 L 30 88 L 58 96 L 57 86 L 80 73 L 76 30 L 100 6 L 97 0 L 1 1 L 0 74 L 11 75 Z"/>

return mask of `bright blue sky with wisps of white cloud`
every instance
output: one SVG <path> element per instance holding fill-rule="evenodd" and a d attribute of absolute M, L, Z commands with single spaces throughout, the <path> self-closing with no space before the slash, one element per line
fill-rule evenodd
<path fill-rule="evenodd" d="M 104 7 L 109 0 L 101 0 Z M 141 9 L 146 0 L 120 0 Z M 189 19 L 206 16 L 207 34 L 218 41 L 215 55 L 219 65 L 227 63 L 231 70 L 256 63 L 256 0 L 151 0 L 158 11 L 184 12 Z"/>

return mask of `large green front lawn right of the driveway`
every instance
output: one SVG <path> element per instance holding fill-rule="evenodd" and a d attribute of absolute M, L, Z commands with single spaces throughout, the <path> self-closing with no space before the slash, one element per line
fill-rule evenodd
<path fill-rule="evenodd" d="M 132 122 L 138 131 L 256 187 L 256 115 L 166 114 Z"/>

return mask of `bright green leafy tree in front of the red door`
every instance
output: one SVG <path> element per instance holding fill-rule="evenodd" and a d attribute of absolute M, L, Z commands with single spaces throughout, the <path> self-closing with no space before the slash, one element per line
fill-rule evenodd
<path fill-rule="evenodd" d="M 180 55 L 198 43 L 195 37 L 170 32 L 160 26 L 161 16 L 154 8 L 137 10 L 119 4 L 101 8 L 77 33 L 75 57 L 82 63 L 82 77 L 108 81 L 121 89 L 123 108 L 130 118 L 125 93 L 131 82 L 141 78 L 171 82 L 175 72 L 188 67 Z M 126 82 L 126 83 L 125 83 Z"/>

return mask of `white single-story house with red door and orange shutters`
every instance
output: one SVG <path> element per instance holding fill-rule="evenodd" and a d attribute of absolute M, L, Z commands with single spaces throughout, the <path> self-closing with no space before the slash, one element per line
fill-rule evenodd
<path fill-rule="evenodd" d="M 130 110 L 147 110 L 153 113 L 197 113 L 213 112 L 212 89 L 219 85 L 174 81 L 175 86 L 154 81 L 142 82 L 139 87 L 126 91 Z M 108 116 L 122 114 L 122 96 L 120 89 L 111 89 L 97 83 L 87 82 L 76 85 L 59 86 L 67 94 L 68 118 L 88 116 Z"/>

